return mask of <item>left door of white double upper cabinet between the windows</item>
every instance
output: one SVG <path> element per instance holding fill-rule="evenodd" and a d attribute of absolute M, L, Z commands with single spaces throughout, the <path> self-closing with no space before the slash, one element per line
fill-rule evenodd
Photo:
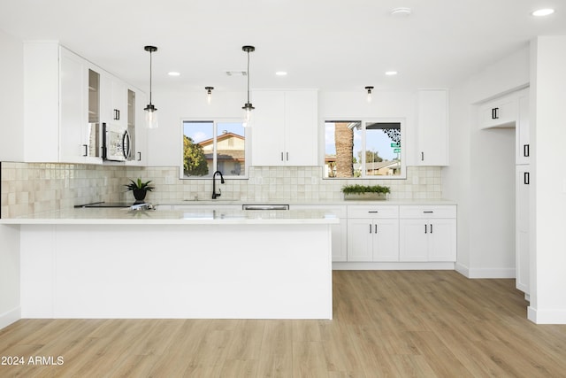
<path fill-rule="evenodd" d="M 254 166 L 285 164 L 285 93 L 256 91 L 253 93 L 252 150 Z"/>

